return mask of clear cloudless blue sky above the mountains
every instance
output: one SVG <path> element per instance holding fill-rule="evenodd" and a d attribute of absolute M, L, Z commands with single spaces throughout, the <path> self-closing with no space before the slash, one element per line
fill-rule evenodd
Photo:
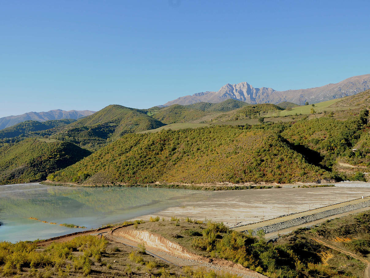
<path fill-rule="evenodd" d="M 0 117 L 370 73 L 369 1 L 0 3 Z"/>

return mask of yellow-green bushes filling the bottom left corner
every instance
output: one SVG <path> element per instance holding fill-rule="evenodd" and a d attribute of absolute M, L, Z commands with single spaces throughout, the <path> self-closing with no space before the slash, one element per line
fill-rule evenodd
<path fill-rule="evenodd" d="M 0 272 L 4 276 L 21 273 L 30 268 L 30 276 L 51 277 L 54 273 L 67 277 L 71 269 L 84 275 L 91 272 L 93 262 L 100 262 L 108 241 L 92 235 L 78 236 L 71 241 L 51 243 L 44 251 L 37 250 L 37 242 L 20 241 L 15 244 L 0 242 Z M 83 252 L 75 255 L 73 252 Z"/>

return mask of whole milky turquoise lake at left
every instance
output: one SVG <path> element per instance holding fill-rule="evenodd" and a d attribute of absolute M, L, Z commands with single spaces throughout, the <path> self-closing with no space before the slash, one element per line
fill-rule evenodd
<path fill-rule="evenodd" d="M 195 195 L 183 189 L 75 188 L 24 183 L 0 186 L 0 241 L 46 239 L 154 214 Z M 57 225 L 30 219 L 55 222 Z"/>

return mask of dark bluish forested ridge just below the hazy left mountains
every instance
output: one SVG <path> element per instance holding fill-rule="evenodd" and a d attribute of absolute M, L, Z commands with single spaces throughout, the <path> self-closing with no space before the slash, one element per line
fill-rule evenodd
<path fill-rule="evenodd" d="M 62 119 L 62 120 L 48 120 L 46 122 L 37 122 L 27 120 L 25 122 L 18 123 L 17 125 L 11 126 L 0 130 L 0 139 L 17 137 L 19 135 L 26 135 L 31 132 L 47 130 L 51 128 L 59 128 L 61 126 L 68 125 L 75 122 L 74 119 Z"/>

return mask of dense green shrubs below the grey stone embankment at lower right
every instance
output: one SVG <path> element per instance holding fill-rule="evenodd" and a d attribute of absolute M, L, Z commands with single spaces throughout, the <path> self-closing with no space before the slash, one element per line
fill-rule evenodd
<path fill-rule="evenodd" d="M 222 223 L 208 222 L 202 235 L 194 236 L 192 246 L 209 252 L 211 257 L 228 259 L 273 278 L 354 278 L 361 276 L 362 262 L 339 255 L 311 237 L 337 242 L 340 248 L 366 258 L 370 251 L 369 217 L 360 214 L 342 221 L 335 219 L 312 229 L 298 230 L 277 242 L 267 242 L 262 231 L 255 237 L 232 231 Z M 343 264 L 350 266 L 343 268 Z"/>

